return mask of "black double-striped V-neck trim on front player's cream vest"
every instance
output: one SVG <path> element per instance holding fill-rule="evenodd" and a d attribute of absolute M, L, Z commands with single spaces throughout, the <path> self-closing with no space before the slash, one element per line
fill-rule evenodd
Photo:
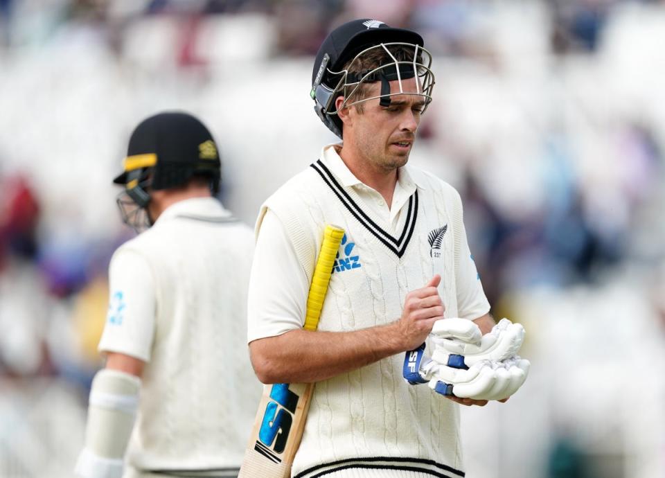
<path fill-rule="evenodd" d="M 355 203 L 353 199 L 351 199 L 351 196 L 344 191 L 344 187 L 342 187 L 339 182 L 337 182 L 337 179 L 335 179 L 335 176 L 332 175 L 332 172 L 328 168 L 326 168 L 326 165 L 323 164 L 321 159 L 319 159 L 316 163 L 312 163 L 310 166 L 314 168 L 316 172 L 319 173 L 319 176 L 321 176 L 321 179 L 323 179 L 323 182 L 325 182 L 328 187 L 332 190 L 333 193 L 337 196 L 337 198 L 344 204 L 346 209 L 353 215 L 354 218 L 362 224 L 365 229 L 367 229 L 370 233 L 372 233 L 375 238 L 380 240 L 384 246 L 386 246 L 388 249 L 393 251 L 398 258 L 401 258 L 405 251 L 407 250 L 407 246 L 409 245 L 409 241 L 411 240 L 411 236 L 413 236 L 414 229 L 416 229 L 416 218 L 418 216 L 418 190 L 409 197 L 409 209 L 407 210 L 407 220 L 405 221 L 404 224 L 404 229 L 402 229 L 402 233 L 400 234 L 400 237 L 398 239 L 393 238 L 389 233 L 384 231 L 381 227 L 378 226 L 371 218 L 369 218 L 366 213 L 362 210 L 358 204 Z"/>

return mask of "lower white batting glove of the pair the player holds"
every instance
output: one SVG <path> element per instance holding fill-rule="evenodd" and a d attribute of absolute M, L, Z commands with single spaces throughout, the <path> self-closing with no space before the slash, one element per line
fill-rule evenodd
<path fill-rule="evenodd" d="M 429 388 L 445 396 L 474 400 L 504 400 L 513 395 L 529 375 L 529 360 L 513 357 L 504 362 L 484 360 L 469 369 L 455 369 L 436 361 L 423 362 Z"/>

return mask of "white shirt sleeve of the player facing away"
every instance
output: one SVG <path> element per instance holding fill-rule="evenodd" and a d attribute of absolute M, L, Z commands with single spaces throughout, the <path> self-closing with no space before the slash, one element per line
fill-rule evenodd
<path fill-rule="evenodd" d="M 109 265 L 109 309 L 100 352 L 150 360 L 156 300 L 150 265 L 140 254 L 118 249 Z"/>

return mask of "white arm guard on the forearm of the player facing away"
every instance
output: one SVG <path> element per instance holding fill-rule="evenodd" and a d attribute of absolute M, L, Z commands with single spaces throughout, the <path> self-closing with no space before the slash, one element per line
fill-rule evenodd
<path fill-rule="evenodd" d="M 90 390 L 85 449 L 76 463 L 78 476 L 122 476 L 140 389 L 141 379 L 129 373 L 102 369 L 95 375 Z"/>

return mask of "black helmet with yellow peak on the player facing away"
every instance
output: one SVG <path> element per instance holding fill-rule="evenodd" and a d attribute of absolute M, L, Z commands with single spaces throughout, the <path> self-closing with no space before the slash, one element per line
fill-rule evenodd
<path fill-rule="evenodd" d="M 130 136 L 123 172 L 113 180 L 125 185 L 117 198 L 123 222 L 137 231 L 147 229 L 150 191 L 184 186 L 195 175 L 209 177 L 211 193 L 218 193 L 220 156 L 205 125 L 184 112 L 141 121 Z"/>

